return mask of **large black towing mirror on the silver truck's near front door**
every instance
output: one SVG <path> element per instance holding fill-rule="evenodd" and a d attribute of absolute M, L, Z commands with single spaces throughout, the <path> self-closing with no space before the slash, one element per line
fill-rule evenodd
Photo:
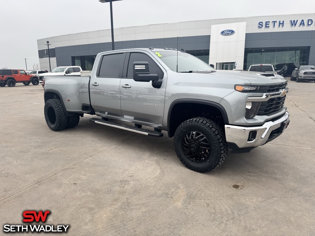
<path fill-rule="evenodd" d="M 133 63 L 133 79 L 139 82 L 150 82 L 158 80 L 158 75 L 150 74 L 148 62 L 136 61 Z"/>

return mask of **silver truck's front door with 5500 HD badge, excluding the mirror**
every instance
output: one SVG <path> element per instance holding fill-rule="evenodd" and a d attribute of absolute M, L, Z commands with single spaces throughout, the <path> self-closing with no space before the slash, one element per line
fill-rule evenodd
<path fill-rule="evenodd" d="M 133 63 L 148 62 L 150 74 L 157 74 L 163 79 L 160 88 L 154 88 L 152 81 L 139 82 L 133 80 Z M 120 104 L 124 118 L 135 121 L 162 125 L 166 71 L 150 55 L 145 52 L 128 53 L 124 66 L 124 77 L 120 82 Z"/>

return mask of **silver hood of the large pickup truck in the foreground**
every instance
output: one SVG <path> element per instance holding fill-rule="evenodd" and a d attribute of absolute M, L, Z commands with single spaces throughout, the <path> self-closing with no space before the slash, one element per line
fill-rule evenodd
<path fill-rule="evenodd" d="M 204 75 L 207 76 L 207 74 Z M 238 84 L 243 81 L 246 84 L 249 82 L 251 85 L 270 86 L 287 82 L 284 77 L 279 75 L 242 70 L 217 70 L 216 72 L 212 72 L 208 75 L 219 76 L 222 80 L 233 79 Z"/>

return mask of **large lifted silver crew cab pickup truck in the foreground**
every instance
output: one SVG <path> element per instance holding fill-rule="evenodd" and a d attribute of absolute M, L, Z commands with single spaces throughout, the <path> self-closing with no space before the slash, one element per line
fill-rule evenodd
<path fill-rule="evenodd" d="M 162 137 L 164 130 L 174 137 L 180 161 L 198 172 L 220 166 L 228 151 L 249 152 L 273 140 L 289 124 L 286 79 L 216 71 L 176 49 L 99 53 L 91 76 L 44 79 L 51 130 L 75 127 L 84 114 L 97 115 L 90 119 L 97 124 L 151 137 Z"/>

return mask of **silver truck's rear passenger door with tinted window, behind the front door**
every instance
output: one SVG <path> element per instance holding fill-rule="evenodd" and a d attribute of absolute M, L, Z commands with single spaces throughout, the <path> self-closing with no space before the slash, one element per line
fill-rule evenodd
<path fill-rule="evenodd" d="M 95 65 L 90 80 L 90 99 L 95 113 L 122 117 L 120 109 L 120 79 L 126 53 L 105 54 Z"/>

